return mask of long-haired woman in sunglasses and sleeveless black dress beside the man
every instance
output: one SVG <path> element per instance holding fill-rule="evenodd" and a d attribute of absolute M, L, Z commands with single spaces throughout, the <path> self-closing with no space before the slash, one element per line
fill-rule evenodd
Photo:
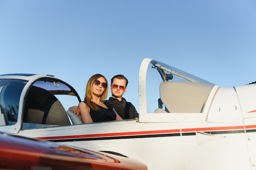
<path fill-rule="evenodd" d="M 111 104 L 104 102 L 107 97 L 107 79 L 101 74 L 93 75 L 86 85 L 85 99 L 78 105 L 83 123 L 123 120 Z"/>

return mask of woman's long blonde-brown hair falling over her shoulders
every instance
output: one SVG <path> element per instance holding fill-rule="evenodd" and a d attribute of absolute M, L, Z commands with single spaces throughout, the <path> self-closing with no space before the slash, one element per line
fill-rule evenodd
<path fill-rule="evenodd" d="M 99 110 L 98 105 L 96 105 L 94 102 L 92 102 L 92 85 L 94 83 L 95 80 L 97 80 L 98 78 L 104 78 L 106 83 L 108 84 L 107 78 L 101 74 L 95 74 L 93 76 L 91 76 L 91 78 L 89 78 L 88 83 L 86 85 L 86 91 L 85 91 L 85 98 L 84 101 L 86 103 L 86 106 L 92 108 L 93 110 Z M 101 95 L 100 101 L 104 102 L 105 99 L 108 97 L 108 86 L 105 88 L 103 94 Z"/>

